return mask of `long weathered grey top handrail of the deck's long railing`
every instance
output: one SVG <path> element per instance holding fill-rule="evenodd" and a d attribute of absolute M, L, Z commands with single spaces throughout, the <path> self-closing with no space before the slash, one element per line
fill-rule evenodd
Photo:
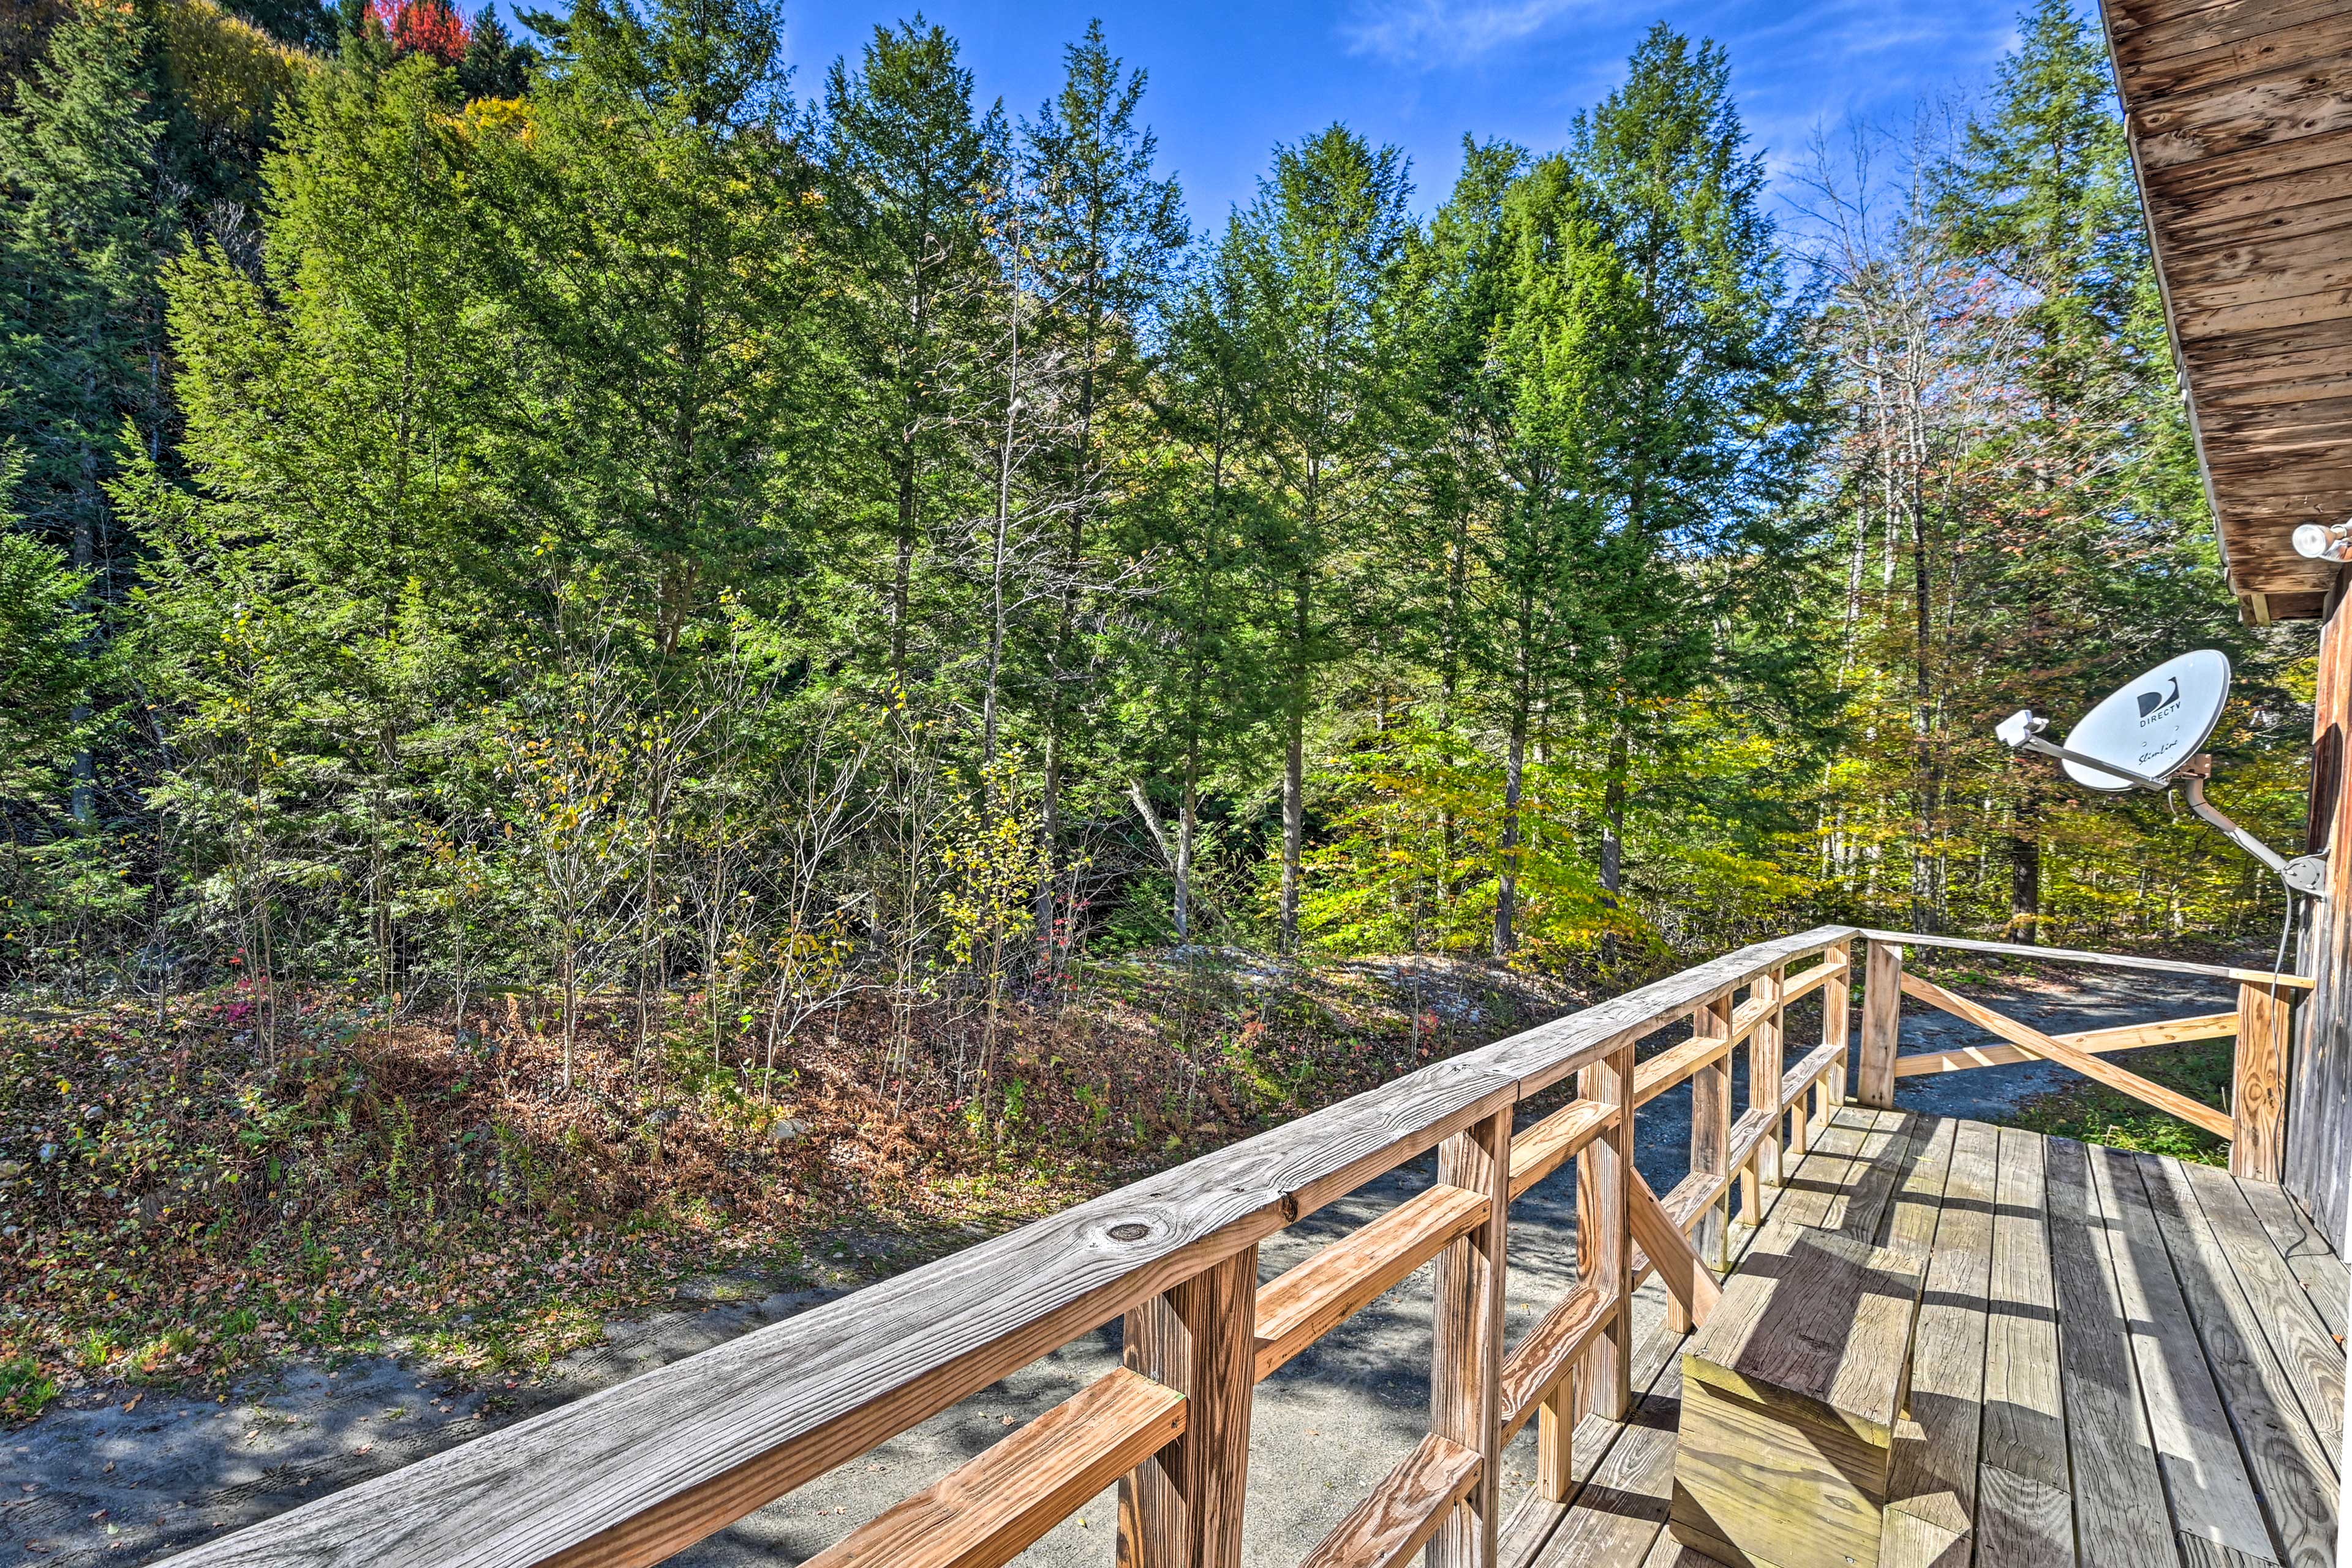
<path fill-rule="evenodd" d="M 1726 1001 L 1759 973 L 1851 938 L 1851 926 L 1818 926 L 1740 947 L 174 1561 L 649 1568 L 1101 1324 L 1171 1300 L 1185 1281 L 1367 1180 L 1494 1126 L 1569 1074 L 1623 1060 L 1632 1041 Z M 1611 1117 L 1606 1135 L 1590 1135 L 1576 1157 L 1597 1159 L 1597 1150 L 1630 1157 L 1630 1117 Z M 1505 1201 L 1510 1164 L 1503 1157 L 1494 1175 Z M 1496 1244 L 1498 1225 L 1491 1213 L 1482 1246 Z M 1461 1237 L 1444 1255 L 1468 1246 Z M 1454 1392 L 1446 1436 L 1472 1436 L 1463 1446 L 1475 1450 L 1498 1441 L 1503 1415 L 1498 1331 L 1461 1316 L 1501 1305 L 1482 1284 L 1501 1258 L 1489 1265 L 1449 1286 L 1461 1324 L 1451 1373 L 1470 1382 Z M 1623 1328 L 1621 1312 L 1616 1321 Z M 1232 1338 L 1211 1331 L 1195 1333 Z M 1609 1408 L 1606 1394 L 1595 1408 Z M 1479 1523 L 1491 1533 L 1491 1507 Z M 1442 1528 L 1442 1544 L 1451 1530 Z"/>

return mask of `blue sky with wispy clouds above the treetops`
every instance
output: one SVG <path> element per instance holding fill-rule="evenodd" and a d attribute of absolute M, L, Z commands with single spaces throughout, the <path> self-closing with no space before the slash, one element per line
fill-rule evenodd
<path fill-rule="evenodd" d="M 788 12 L 795 92 L 913 7 L 823 0 Z M 983 101 L 1033 115 L 1061 47 L 1101 16 L 1110 47 L 1150 73 L 1145 118 L 1197 228 L 1256 190 L 1275 141 L 1345 120 L 1414 160 L 1416 205 L 1444 197 L 1463 132 L 1559 146 L 1578 108 L 1623 73 L 1651 21 L 1715 38 L 1776 169 L 1816 127 L 1907 122 L 1922 96 L 1980 89 L 2016 35 L 2016 0 L 931 0 Z"/>

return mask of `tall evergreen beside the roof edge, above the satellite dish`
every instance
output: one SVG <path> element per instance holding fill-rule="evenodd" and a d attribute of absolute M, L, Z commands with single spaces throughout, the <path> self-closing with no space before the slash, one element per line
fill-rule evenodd
<path fill-rule="evenodd" d="M 1969 517 L 1992 545 L 1980 555 L 1999 562 L 1985 595 L 2002 611 L 1962 618 L 1947 639 L 1976 689 L 1952 717 L 1983 729 L 2018 703 L 2089 703 L 2129 668 L 2178 651 L 2190 625 L 2237 642 L 2213 614 L 2225 595 L 2211 592 L 2204 494 L 2107 49 L 2063 0 L 2018 16 L 2018 47 L 1936 169 L 1936 197 L 1952 252 L 2004 287 L 2006 331 L 1987 339 L 1983 369 L 2018 390 L 2016 416 L 1978 454 L 1999 482 Z M 1929 555 L 1919 541 L 1922 712 L 1936 642 Z M 2032 771 L 2009 783 L 2006 933 L 2037 940 L 2042 844 L 2065 795 Z"/>

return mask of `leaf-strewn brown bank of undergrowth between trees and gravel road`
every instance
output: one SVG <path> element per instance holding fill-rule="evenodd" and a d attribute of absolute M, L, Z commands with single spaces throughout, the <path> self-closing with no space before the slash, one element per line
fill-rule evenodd
<path fill-rule="evenodd" d="M 609 997 L 569 1091 L 524 997 L 280 1011 L 273 1051 L 238 987 L 0 1013 L 0 1418 L 289 1354 L 513 1375 L 689 1274 L 920 1260 L 1564 1004 L 1477 966 L 1103 964 L 1014 1006 L 983 1074 L 948 1004 L 847 1006 L 769 1070 L 699 997 Z"/>

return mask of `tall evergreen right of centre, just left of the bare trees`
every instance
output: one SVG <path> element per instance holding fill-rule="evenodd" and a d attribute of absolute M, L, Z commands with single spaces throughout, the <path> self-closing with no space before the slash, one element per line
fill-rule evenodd
<path fill-rule="evenodd" d="M 1642 313 L 1606 433 L 1616 531 L 1585 592 L 1585 701 L 1609 715 L 1599 867 L 1613 900 L 1632 769 L 1663 743 L 1665 705 L 1715 672 L 1710 599 L 1736 588 L 1724 564 L 1785 562 L 1755 548 L 1757 529 L 1799 491 L 1813 369 L 1719 45 L 1653 26 L 1625 85 L 1578 118 L 1573 160 Z"/>

